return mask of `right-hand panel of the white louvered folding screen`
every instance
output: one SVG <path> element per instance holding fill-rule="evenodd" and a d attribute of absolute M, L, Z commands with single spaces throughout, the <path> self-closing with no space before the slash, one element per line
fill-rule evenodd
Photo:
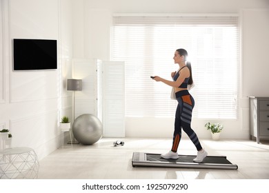
<path fill-rule="evenodd" d="M 124 62 L 103 61 L 103 136 L 125 136 Z"/>

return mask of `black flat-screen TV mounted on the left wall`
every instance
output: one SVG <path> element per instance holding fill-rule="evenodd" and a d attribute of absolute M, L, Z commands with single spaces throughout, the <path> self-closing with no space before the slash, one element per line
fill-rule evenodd
<path fill-rule="evenodd" d="M 57 69 L 57 40 L 13 39 L 14 70 Z"/>

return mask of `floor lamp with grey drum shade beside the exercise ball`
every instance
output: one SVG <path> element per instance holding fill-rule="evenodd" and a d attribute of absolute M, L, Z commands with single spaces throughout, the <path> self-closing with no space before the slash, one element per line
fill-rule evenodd
<path fill-rule="evenodd" d="M 82 80 L 81 79 L 68 79 L 67 80 L 67 90 L 72 90 L 72 115 L 73 115 L 73 119 L 72 119 L 72 123 L 74 123 L 74 92 L 77 90 L 82 90 Z M 72 130 L 72 127 L 71 127 Z M 68 142 L 68 144 L 78 144 L 79 142 L 75 142 L 74 141 L 74 134 L 72 132 L 72 141 Z"/>

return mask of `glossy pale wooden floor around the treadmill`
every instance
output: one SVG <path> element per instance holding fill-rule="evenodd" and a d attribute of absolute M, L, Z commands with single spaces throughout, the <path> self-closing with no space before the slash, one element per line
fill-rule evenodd
<path fill-rule="evenodd" d="M 133 152 L 161 154 L 171 139 L 100 139 L 94 145 L 59 148 L 39 161 L 39 179 L 269 179 L 269 142 L 201 139 L 208 155 L 227 156 L 238 170 L 132 167 Z M 197 154 L 190 139 L 182 139 L 179 154 Z"/>

